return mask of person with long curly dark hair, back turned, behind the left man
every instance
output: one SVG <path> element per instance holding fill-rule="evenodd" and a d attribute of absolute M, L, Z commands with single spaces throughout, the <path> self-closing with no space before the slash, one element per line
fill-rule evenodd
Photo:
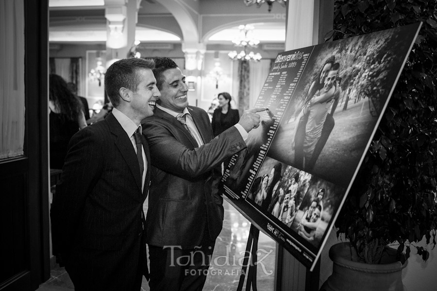
<path fill-rule="evenodd" d="M 62 169 L 70 138 L 86 126 L 81 101 L 59 75 L 49 78 L 50 168 Z"/>

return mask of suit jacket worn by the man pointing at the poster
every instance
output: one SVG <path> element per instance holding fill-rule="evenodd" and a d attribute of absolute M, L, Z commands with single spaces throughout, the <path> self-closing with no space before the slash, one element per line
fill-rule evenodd
<path fill-rule="evenodd" d="M 223 160 L 246 148 L 233 126 L 213 139 L 208 115 L 188 106 L 204 145 L 170 114 L 155 108 L 142 121 L 151 153 L 151 186 L 146 218 L 150 245 L 191 249 L 201 243 L 208 224 L 215 240 L 223 223 L 223 198 L 218 193 Z"/>

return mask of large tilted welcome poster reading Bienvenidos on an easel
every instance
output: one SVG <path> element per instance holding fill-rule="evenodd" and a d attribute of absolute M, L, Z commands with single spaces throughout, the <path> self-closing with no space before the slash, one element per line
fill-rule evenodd
<path fill-rule="evenodd" d="M 420 25 L 279 53 L 255 103 L 268 110 L 225 167 L 230 202 L 311 271 Z"/>

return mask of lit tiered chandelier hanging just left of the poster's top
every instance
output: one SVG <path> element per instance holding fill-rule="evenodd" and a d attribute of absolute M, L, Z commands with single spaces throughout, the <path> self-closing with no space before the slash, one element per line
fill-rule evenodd
<path fill-rule="evenodd" d="M 246 24 L 238 26 L 238 29 L 240 30 L 240 35 L 232 42 L 235 46 L 242 47 L 243 49 L 240 52 L 230 51 L 228 53 L 228 56 L 234 61 L 246 60 L 258 62 L 261 59 L 261 54 L 259 54 L 259 52 L 247 52 L 248 48 L 256 48 L 259 44 L 259 40 L 252 38 L 252 32 L 254 27 L 252 25 Z"/>

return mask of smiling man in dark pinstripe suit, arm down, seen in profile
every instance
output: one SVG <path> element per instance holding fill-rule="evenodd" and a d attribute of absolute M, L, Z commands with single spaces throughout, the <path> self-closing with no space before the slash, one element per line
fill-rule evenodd
<path fill-rule="evenodd" d="M 148 276 L 143 202 L 151 159 L 137 132 L 160 96 L 152 68 L 143 59 L 110 66 L 105 89 L 112 113 L 70 140 L 51 223 L 53 253 L 76 291 L 139 291 Z"/>

